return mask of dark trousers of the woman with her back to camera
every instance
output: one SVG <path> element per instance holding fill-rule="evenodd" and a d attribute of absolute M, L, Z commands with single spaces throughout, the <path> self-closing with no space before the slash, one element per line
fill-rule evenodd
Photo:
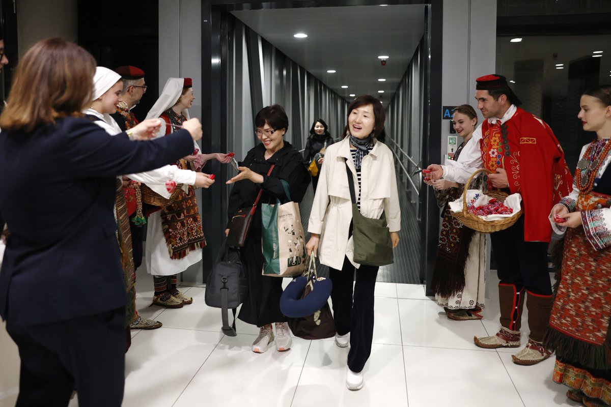
<path fill-rule="evenodd" d="M 6 330 L 19 348 L 16 407 L 119 407 L 125 385 L 125 308 Z"/>

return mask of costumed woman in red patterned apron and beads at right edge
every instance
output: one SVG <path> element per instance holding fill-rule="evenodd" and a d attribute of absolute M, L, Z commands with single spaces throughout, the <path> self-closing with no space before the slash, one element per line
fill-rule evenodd
<path fill-rule="evenodd" d="M 587 90 L 579 119 L 596 140 L 585 145 L 573 191 L 552 208 L 565 233 L 562 273 L 545 346 L 556 351 L 554 381 L 586 406 L 611 405 L 611 85 Z"/>

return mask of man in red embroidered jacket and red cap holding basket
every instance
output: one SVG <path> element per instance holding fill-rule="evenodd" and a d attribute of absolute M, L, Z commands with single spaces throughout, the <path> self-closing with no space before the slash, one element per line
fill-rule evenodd
<path fill-rule="evenodd" d="M 522 195 L 522 215 L 510 228 L 491 233 L 499 275 L 500 330 L 475 337 L 481 348 L 520 346 L 524 298 L 529 310 L 530 336 L 513 355 L 517 364 L 532 365 L 549 358 L 543 336 L 552 309 L 552 287 L 547 270 L 547 247 L 552 236 L 549 213 L 568 195 L 573 178 L 552 129 L 520 109 L 518 97 L 500 75 L 478 77 L 477 107 L 486 120 L 475 130 L 474 142 L 461 153 L 462 163 L 432 164 L 433 179 L 464 184 L 478 168 L 492 171 L 488 186 Z M 527 294 L 527 295 L 526 295 Z"/>

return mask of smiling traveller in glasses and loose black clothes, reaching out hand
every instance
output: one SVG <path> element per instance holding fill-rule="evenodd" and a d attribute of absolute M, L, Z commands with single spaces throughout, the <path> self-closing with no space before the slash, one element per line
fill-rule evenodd
<path fill-rule="evenodd" d="M 238 318 L 260 327 L 260 333 L 252 344 L 252 351 L 263 353 L 274 341 L 272 324 L 276 323 L 276 350 L 289 350 L 292 344 L 287 319 L 280 312 L 282 278 L 262 276 L 263 253 L 261 249 L 261 204 L 287 200 L 280 179 L 288 182 L 291 200 L 301 202 L 310 183 L 310 176 L 302 162 L 301 154 L 284 140 L 288 129 L 288 117 L 282 106 L 274 104 L 264 107 L 255 117 L 255 134 L 260 144 L 246 154 L 241 162 L 240 174 L 227 184 L 233 186 L 228 215 L 229 222 L 241 207 L 252 206 L 259 190 L 263 189 L 251 229 L 244 247 L 240 251 L 242 265 L 248 278 L 248 295 Z M 269 168 L 274 165 L 268 176 Z M 228 225 L 229 227 L 229 225 Z M 225 234 L 229 229 L 225 231 Z"/>

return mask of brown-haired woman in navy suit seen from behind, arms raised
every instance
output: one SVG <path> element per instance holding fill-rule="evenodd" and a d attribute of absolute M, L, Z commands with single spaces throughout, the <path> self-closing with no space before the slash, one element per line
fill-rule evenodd
<path fill-rule="evenodd" d="M 95 60 L 61 38 L 32 46 L 0 116 L 0 211 L 10 236 L 0 316 L 21 356 L 17 406 L 120 406 L 126 293 L 113 207 L 117 176 L 187 156 L 197 120 L 148 142 L 147 120 L 112 137 L 81 110 Z"/>

